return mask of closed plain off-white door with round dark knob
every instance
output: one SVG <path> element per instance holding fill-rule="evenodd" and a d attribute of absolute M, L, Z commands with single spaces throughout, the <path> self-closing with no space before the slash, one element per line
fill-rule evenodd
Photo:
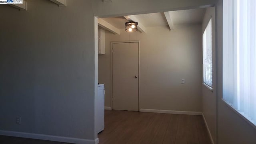
<path fill-rule="evenodd" d="M 139 110 L 139 43 L 112 44 L 112 109 Z"/>

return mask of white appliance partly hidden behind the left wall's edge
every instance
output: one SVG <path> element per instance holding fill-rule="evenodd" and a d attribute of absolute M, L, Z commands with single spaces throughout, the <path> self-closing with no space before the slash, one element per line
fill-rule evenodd
<path fill-rule="evenodd" d="M 96 97 L 96 132 L 99 133 L 104 130 L 104 102 L 105 102 L 105 88 L 104 84 L 98 84 L 98 96 Z"/>

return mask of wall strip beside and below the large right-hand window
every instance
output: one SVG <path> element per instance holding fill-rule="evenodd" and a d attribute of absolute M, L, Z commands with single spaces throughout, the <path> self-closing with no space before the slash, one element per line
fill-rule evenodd
<path fill-rule="evenodd" d="M 256 129 L 229 108 L 222 99 L 222 0 L 216 5 L 216 68 L 218 144 L 256 144 Z"/>

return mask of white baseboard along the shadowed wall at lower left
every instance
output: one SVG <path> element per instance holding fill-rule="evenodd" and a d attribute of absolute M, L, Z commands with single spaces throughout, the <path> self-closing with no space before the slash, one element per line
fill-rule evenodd
<path fill-rule="evenodd" d="M 88 139 L 81 139 L 81 138 L 69 138 L 63 136 L 51 136 L 45 134 L 33 134 L 27 132 L 13 132 L 7 130 L 0 130 L 0 135 L 4 136 L 15 136 L 15 137 L 22 137 L 22 138 L 33 138 L 39 140 L 50 140 L 50 141 L 57 141 L 57 142 L 68 142 L 74 144 L 98 144 L 99 139 L 96 138 L 95 140 L 88 140 Z"/>

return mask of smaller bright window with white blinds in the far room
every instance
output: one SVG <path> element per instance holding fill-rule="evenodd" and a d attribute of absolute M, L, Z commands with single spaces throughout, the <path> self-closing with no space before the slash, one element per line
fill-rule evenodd
<path fill-rule="evenodd" d="M 212 87 L 212 19 L 203 34 L 204 83 Z"/>

